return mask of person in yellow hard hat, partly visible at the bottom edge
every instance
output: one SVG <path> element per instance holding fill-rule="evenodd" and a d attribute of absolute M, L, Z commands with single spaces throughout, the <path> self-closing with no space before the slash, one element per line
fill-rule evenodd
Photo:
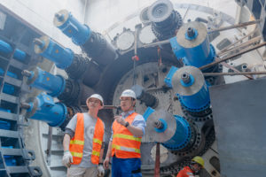
<path fill-rule="evenodd" d="M 195 177 L 195 174 L 199 173 L 202 168 L 204 168 L 204 160 L 200 156 L 196 156 L 192 158 L 191 165 L 184 166 L 176 177 Z"/>

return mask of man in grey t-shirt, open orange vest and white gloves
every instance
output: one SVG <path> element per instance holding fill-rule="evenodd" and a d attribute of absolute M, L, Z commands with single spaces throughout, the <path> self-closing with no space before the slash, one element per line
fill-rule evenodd
<path fill-rule="evenodd" d="M 67 167 L 67 177 L 103 176 L 105 124 L 98 118 L 103 108 L 103 97 L 93 94 L 86 104 L 89 112 L 77 113 L 66 126 L 64 136 L 63 165 Z"/>

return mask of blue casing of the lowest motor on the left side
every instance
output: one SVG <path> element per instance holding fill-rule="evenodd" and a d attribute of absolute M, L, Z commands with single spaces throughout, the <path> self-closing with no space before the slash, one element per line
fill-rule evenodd
<path fill-rule="evenodd" d="M 51 127 L 59 127 L 66 120 L 67 110 L 65 104 L 54 103 L 52 97 L 45 93 L 41 93 L 36 99 L 37 108 L 30 119 L 42 120 Z M 31 111 L 33 111 L 32 107 L 27 110 L 27 112 Z"/>

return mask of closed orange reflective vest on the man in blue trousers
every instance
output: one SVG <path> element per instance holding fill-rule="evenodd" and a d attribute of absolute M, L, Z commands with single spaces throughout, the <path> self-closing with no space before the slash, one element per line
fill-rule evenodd
<path fill-rule="evenodd" d="M 137 113 L 130 114 L 125 120 L 131 124 Z M 117 158 L 140 158 L 141 137 L 135 137 L 127 127 L 116 120 L 113 122 L 112 156 Z"/>

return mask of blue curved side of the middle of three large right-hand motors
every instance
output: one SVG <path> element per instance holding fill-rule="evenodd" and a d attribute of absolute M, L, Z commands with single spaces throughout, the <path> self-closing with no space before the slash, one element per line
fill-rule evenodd
<path fill-rule="evenodd" d="M 184 108 L 190 112 L 201 112 L 210 105 L 209 91 L 206 83 L 198 93 L 192 96 L 181 96 L 177 94 L 176 96 L 178 96 L 179 101 L 184 105 Z"/>

